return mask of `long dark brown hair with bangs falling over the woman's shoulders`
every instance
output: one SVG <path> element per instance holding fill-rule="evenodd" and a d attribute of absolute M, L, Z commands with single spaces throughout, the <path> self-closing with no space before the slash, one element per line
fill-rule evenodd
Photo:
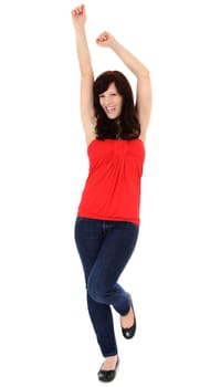
<path fill-rule="evenodd" d="M 123 96 L 123 106 L 120 117 L 109 119 L 99 104 L 99 95 L 114 83 L 117 92 Z M 133 91 L 126 76 L 119 71 L 106 71 L 97 76 L 94 82 L 94 108 L 96 116 L 96 138 L 117 138 L 122 139 L 138 138 L 140 135 L 140 125 L 136 114 Z"/>

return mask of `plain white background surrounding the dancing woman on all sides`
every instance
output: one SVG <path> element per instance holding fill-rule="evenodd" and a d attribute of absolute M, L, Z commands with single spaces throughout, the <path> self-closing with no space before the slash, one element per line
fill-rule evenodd
<path fill-rule="evenodd" d="M 87 175 L 65 0 L 0 6 L 0 385 L 98 386 L 74 219 Z M 122 276 L 138 331 L 115 386 L 220 387 L 219 1 L 85 1 L 95 73 L 119 69 L 103 30 L 150 70 L 141 227 Z"/>

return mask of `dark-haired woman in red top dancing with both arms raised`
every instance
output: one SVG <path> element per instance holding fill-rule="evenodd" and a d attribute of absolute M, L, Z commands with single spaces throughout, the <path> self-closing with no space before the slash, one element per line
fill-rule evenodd
<path fill-rule="evenodd" d="M 150 117 L 149 71 L 110 33 L 96 43 L 109 48 L 137 80 L 136 104 L 122 72 L 106 71 L 94 80 L 85 33 L 85 6 L 72 11 L 81 72 L 81 116 L 90 171 L 75 221 L 90 317 L 104 363 L 98 379 L 110 381 L 119 364 L 112 307 L 122 333 L 131 338 L 136 317 L 131 296 L 118 279 L 135 249 L 139 231 L 140 179 Z"/>

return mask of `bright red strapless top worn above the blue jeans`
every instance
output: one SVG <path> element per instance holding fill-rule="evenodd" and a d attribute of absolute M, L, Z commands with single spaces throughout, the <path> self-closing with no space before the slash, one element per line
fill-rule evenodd
<path fill-rule="evenodd" d="M 139 224 L 141 139 L 94 139 L 87 147 L 90 171 L 77 216 Z"/>

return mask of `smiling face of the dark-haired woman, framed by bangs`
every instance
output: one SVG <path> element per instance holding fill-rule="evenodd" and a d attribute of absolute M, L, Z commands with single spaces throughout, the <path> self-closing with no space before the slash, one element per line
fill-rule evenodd
<path fill-rule="evenodd" d="M 120 116 L 123 96 L 118 93 L 114 82 L 98 97 L 99 104 L 109 119 L 116 119 Z"/>

